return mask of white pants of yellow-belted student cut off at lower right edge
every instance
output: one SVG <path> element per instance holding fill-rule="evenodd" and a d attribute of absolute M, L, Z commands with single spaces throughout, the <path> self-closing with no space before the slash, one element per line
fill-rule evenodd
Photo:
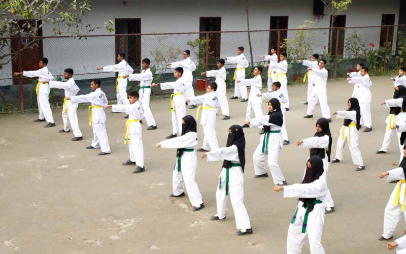
<path fill-rule="evenodd" d="M 397 184 L 395 184 L 392 194 L 389 197 L 388 204 L 385 207 L 384 233 L 382 234 L 382 236 L 385 238 L 393 236 L 396 225 L 399 223 L 402 217 L 404 217 L 404 219 L 406 220 L 406 211 L 402 212 L 402 204 L 400 203 L 400 201 L 398 202 L 398 205 L 395 206 L 396 192 Z M 404 193 L 400 192 L 400 197 L 402 197 L 403 195 Z"/>

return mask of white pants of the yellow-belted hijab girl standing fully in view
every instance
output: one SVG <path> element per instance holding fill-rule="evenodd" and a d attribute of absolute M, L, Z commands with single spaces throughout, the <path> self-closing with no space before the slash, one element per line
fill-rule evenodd
<path fill-rule="evenodd" d="M 350 141 L 348 148 L 351 152 L 352 163 L 354 165 L 364 166 L 362 161 L 361 151 L 358 149 L 358 130 L 356 126 L 342 126 L 339 139 L 337 140 L 337 148 L 335 150 L 335 158 L 340 161 L 343 160 L 343 150 L 346 143 L 348 143 L 348 136 L 350 135 Z M 344 138 L 342 138 L 342 132 L 344 130 Z"/>

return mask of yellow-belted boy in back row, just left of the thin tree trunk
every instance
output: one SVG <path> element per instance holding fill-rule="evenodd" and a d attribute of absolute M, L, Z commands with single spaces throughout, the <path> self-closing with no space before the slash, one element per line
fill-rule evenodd
<path fill-rule="evenodd" d="M 236 82 L 237 79 L 242 80 L 245 79 L 245 68 L 249 66 L 248 60 L 244 55 L 244 47 L 237 48 L 238 56 L 228 56 L 224 57 L 223 59 L 227 61 L 227 63 L 236 64 L 234 71 L 234 96 L 231 97 L 231 100 L 238 99 L 240 96 L 243 100 L 241 102 L 248 102 L 248 91 L 247 86 L 240 85 Z"/>

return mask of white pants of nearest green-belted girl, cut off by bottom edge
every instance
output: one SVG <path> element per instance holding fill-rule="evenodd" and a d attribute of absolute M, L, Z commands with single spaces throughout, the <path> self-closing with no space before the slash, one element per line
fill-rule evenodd
<path fill-rule="evenodd" d="M 303 226 L 303 217 L 296 218 L 294 224 L 289 224 L 286 249 L 288 254 L 300 254 L 301 248 L 306 239 L 309 239 L 310 253 L 324 254 L 323 245 L 321 245 L 321 236 L 323 234 L 324 207 L 321 204 L 315 204 L 312 212 L 309 213 L 306 232 L 301 233 Z"/>

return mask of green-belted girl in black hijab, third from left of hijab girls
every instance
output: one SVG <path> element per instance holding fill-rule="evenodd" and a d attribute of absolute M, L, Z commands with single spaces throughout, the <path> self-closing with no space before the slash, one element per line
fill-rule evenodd
<path fill-rule="evenodd" d="M 281 128 L 283 124 L 283 115 L 281 104 L 278 99 L 273 98 L 268 102 L 269 113 L 260 116 L 245 123 L 250 128 L 263 125 L 265 133 L 261 135 L 259 145 L 252 156 L 254 162 L 254 177 L 268 177 L 265 169 L 265 160 L 268 158 L 268 167 L 275 185 L 286 185 L 285 177 L 278 165 L 279 152 L 282 150 Z"/>

